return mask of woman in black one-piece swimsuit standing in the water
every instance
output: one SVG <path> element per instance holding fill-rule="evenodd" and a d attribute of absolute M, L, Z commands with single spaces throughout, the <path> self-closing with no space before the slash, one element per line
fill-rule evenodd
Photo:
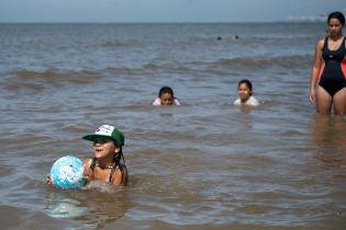
<path fill-rule="evenodd" d="M 328 36 L 317 42 L 311 71 L 310 102 L 316 111 L 328 115 L 346 114 L 346 45 L 343 27 L 345 16 L 333 12 L 327 19 Z"/>

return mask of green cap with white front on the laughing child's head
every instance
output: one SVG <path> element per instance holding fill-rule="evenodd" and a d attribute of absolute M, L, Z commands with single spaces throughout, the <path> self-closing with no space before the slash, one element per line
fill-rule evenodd
<path fill-rule="evenodd" d="M 85 140 L 115 140 L 119 146 L 124 146 L 124 135 L 111 125 L 101 125 L 93 134 L 82 137 Z"/>

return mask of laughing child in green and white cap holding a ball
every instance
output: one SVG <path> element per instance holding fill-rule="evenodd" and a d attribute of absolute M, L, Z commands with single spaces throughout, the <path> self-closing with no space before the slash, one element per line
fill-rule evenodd
<path fill-rule="evenodd" d="M 102 181 L 113 185 L 126 185 L 129 173 L 122 151 L 124 135 L 113 126 L 102 125 L 82 139 L 93 141 L 93 158 L 83 160 L 87 184 L 91 181 Z"/>

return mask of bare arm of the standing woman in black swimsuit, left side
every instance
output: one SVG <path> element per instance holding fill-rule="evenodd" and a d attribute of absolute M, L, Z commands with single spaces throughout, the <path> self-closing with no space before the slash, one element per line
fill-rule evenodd
<path fill-rule="evenodd" d="M 316 44 L 312 70 L 311 70 L 311 77 L 310 77 L 310 93 L 309 99 L 310 103 L 313 104 L 315 101 L 315 88 L 317 84 L 317 79 L 322 66 L 322 48 L 324 45 L 324 39 L 320 39 Z"/>

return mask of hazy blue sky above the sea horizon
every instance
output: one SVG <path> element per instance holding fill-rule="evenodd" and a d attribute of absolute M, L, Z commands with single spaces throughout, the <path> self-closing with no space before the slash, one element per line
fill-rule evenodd
<path fill-rule="evenodd" d="M 346 13 L 346 0 L 0 0 L 0 22 L 270 22 Z"/>

